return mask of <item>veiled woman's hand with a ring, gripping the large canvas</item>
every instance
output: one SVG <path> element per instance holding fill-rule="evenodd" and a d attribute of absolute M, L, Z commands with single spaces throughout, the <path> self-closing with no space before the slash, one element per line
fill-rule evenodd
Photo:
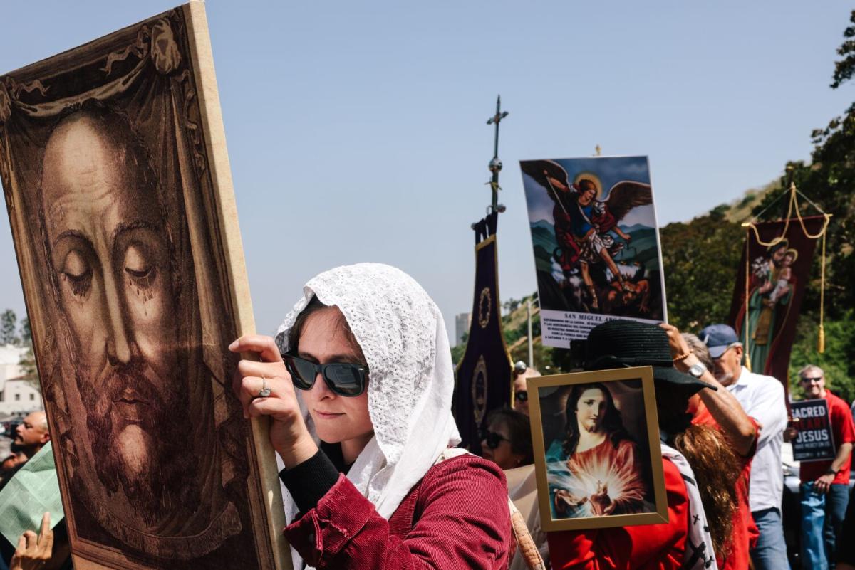
<path fill-rule="evenodd" d="M 241 360 L 234 372 L 232 388 L 244 408 L 244 417 L 270 417 L 270 444 L 280 454 L 286 468 L 314 456 L 317 445 L 303 421 L 291 375 L 275 341 L 269 336 L 246 334 L 228 349 L 255 352 L 260 359 L 260 362 Z M 270 390 L 267 397 L 259 395 L 264 387 Z"/>

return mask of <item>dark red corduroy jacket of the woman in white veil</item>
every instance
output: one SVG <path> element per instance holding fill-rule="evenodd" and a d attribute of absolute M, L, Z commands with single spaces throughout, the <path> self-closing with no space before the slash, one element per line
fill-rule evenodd
<path fill-rule="evenodd" d="M 470 455 L 434 465 L 388 521 L 339 475 L 285 535 L 318 570 L 505 570 L 514 548 L 504 473 Z"/>

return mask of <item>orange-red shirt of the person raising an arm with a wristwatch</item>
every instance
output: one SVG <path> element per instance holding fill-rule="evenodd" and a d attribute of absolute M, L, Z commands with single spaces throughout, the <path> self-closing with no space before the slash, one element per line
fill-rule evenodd
<path fill-rule="evenodd" d="M 751 480 L 751 462 L 754 452 L 757 451 L 757 441 L 760 438 L 760 427 L 758 422 L 751 416 L 748 417 L 754 426 L 755 438 L 751 454 L 741 457 L 736 454 L 740 462 L 740 478 L 736 480 L 736 501 L 738 508 L 734 513 L 734 535 L 733 544 L 728 555 L 722 557 L 716 554 L 716 563 L 719 570 L 745 570 L 751 557 L 750 550 L 757 545 L 760 536 L 754 517 L 751 514 L 751 506 L 748 504 L 748 482 Z M 710 413 L 710 410 L 701 403 L 699 409 L 692 419 L 692 423 L 701 426 L 710 426 L 721 431 L 721 427 Z"/>

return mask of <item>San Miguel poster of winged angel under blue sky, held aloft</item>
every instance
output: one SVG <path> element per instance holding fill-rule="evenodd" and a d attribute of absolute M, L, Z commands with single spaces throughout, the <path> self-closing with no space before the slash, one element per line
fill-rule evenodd
<path fill-rule="evenodd" d="M 612 318 L 666 320 L 646 156 L 522 160 L 545 346 Z"/>

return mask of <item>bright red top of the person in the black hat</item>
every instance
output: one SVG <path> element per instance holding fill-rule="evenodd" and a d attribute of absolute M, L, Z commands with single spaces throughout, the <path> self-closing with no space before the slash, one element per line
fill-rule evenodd
<path fill-rule="evenodd" d="M 676 570 L 686 552 L 689 502 L 674 463 L 663 457 L 668 522 L 585 531 L 547 532 L 552 567 L 574 570 Z"/>

